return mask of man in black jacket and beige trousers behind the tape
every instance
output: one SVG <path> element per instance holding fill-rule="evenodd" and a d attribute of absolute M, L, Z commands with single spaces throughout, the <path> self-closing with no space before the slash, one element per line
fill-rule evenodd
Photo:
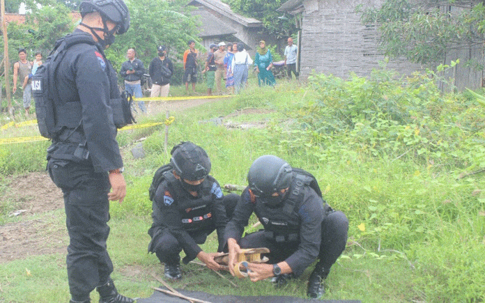
<path fill-rule="evenodd" d="M 167 47 L 160 45 L 157 52 L 158 56 L 153 58 L 148 69 L 152 80 L 151 98 L 169 96 L 170 79 L 174 73 L 174 65 L 167 58 Z"/>

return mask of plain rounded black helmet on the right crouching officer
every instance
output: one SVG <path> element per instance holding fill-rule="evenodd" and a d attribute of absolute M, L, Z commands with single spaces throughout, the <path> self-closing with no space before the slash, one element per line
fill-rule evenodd
<path fill-rule="evenodd" d="M 247 173 L 249 189 L 254 196 L 270 197 L 275 192 L 291 185 L 290 164 L 274 155 L 264 155 L 256 159 Z"/>

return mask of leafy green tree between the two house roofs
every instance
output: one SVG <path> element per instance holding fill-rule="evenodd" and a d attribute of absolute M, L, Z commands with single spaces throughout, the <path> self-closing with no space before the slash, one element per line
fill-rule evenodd
<path fill-rule="evenodd" d="M 253 17 L 263 22 L 266 34 L 277 39 L 295 35 L 297 29 L 293 18 L 279 19 L 282 13 L 277 8 L 285 0 L 223 0 L 236 13 Z"/>

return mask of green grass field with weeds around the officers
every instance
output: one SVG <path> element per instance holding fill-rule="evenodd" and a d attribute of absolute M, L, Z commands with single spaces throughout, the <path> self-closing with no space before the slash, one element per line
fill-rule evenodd
<path fill-rule="evenodd" d="M 315 76 L 307 84 L 275 88 L 257 88 L 252 82 L 234 98 L 171 112 L 169 150 L 187 140 L 205 148 L 211 175 L 221 185 L 246 185 L 250 164 L 265 154 L 314 173 L 328 203 L 350 220 L 348 245 L 325 281 L 322 299 L 484 302 L 484 109 L 468 95 L 438 93 L 421 76 L 404 85 L 389 78 Z M 184 93 L 185 87 L 171 91 Z M 161 111 L 139 123 L 164 117 Z M 220 117 L 222 124 L 215 123 Z M 0 121 L 8 123 L 4 116 Z M 35 128 L 0 133 L 1 138 L 28 135 L 37 135 Z M 121 293 L 148 297 L 151 287 L 160 286 L 152 274 L 163 276 L 156 256 L 147 254 L 147 230 L 148 186 L 157 167 L 169 161 L 164 125 L 120 132 L 118 141 L 128 194 L 123 204 L 111 203 L 112 277 Z M 139 142 L 146 157 L 135 160 L 130 150 Z M 0 145 L 0 178 L 43 171 L 47 146 Z M 10 186 L 1 184 L 3 196 Z M 16 203 L 0 200 L 0 224 L 32 219 L 63 224 L 61 209 L 8 217 Z M 215 235 L 203 249 L 217 249 Z M 224 273 L 236 288 L 196 264 L 182 269 L 183 280 L 172 283 L 176 288 L 296 297 L 305 297 L 311 272 L 276 290 L 269 281 L 251 283 Z M 0 263 L 0 273 L 0 302 L 69 300 L 61 252 Z M 97 302 L 97 293 L 91 300 Z"/>

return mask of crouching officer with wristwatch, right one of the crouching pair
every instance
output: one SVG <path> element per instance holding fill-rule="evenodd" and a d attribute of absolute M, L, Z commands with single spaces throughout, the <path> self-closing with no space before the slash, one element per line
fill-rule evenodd
<path fill-rule="evenodd" d="M 279 157 L 264 155 L 256 159 L 249 168 L 247 180 L 249 186 L 242 192 L 224 232 L 231 274 L 234 275 L 237 253 L 245 248 L 270 249 L 269 264 L 250 263 L 248 275 L 252 281 L 275 277 L 272 281 L 277 286 L 300 276 L 318 258 L 307 295 L 321 297 L 325 292 L 323 279 L 346 246 L 347 217 L 322 201 L 311 174 L 292 169 Z M 252 212 L 264 230 L 241 238 Z"/>

